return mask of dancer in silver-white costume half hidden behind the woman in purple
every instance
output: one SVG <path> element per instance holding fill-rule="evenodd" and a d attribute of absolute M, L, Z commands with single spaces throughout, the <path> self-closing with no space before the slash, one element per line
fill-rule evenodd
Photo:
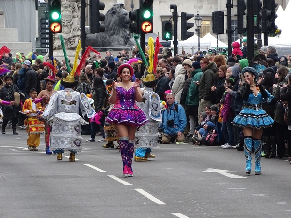
<path fill-rule="evenodd" d="M 151 154 L 151 148 L 158 148 L 159 123 L 162 122 L 160 110 L 160 97 L 153 90 L 157 85 L 158 79 L 152 73 L 143 78 L 144 88 L 141 89 L 143 98 L 137 105 L 142 109 L 148 119 L 148 123 L 142 125 L 136 132 L 136 146 L 134 161 L 146 162 L 148 158 L 155 158 Z"/>

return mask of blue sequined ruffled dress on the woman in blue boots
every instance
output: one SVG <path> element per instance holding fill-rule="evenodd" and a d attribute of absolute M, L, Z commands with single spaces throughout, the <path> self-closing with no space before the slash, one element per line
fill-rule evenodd
<path fill-rule="evenodd" d="M 243 100 L 243 109 L 234 118 L 232 124 L 239 127 L 254 129 L 268 128 L 273 125 L 273 119 L 262 109 L 263 97 L 260 92 L 257 96 L 249 94 L 247 101 Z"/>

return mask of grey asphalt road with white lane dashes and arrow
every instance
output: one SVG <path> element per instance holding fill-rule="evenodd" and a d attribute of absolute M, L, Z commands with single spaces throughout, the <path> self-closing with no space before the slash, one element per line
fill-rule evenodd
<path fill-rule="evenodd" d="M 243 152 L 164 144 L 124 178 L 119 151 L 86 143 L 89 136 L 76 162 L 69 152 L 57 162 L 45 154 L 43 135 L 39 151 L 29 151 L 25 131 L 18 133 L 0 135 L 0 218 L 291 217 L 284 160 L 263 158 L 262 175 L 246 175 Z"/>

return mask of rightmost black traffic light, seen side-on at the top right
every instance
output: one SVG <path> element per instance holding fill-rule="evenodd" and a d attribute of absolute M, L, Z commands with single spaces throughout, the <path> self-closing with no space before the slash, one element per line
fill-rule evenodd
<path fill-rule="evenodd" d="M 262 31 L 267 33 L 274 33 L 278 29 L 275 25 L 275 19 L 278 17 L 275 13 L 275 8 L 278 6 L 275 0 L 264 0 L 262 10 Z"/>

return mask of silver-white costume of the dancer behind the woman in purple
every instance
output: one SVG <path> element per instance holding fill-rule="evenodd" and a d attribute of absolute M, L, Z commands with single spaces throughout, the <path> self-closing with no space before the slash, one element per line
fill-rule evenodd
<path fill-rule="evenodd" d="M 158 147 L 158 125 L 162 121 L 160 110 L 160 97 L 152 88 L 142 89 L 145 101 L 137 103 L 148 119 L 148 123 L 142 125 L 135 134 L 136 146 L 138 148 L 157 148 Z"/>

